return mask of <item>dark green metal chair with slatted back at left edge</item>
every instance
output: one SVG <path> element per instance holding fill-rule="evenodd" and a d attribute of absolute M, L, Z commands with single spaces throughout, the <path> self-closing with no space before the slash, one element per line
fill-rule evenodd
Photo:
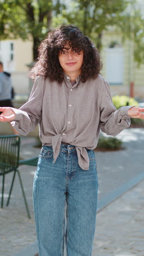
<path fill-rule="evenodd" d="M 4 179 L 5 174 L 10 172 L 14 172 L 13 179 L 11 181 L 9 196 L 7 200 L 7 206 L 9 205 L 11 191 L 13 189 L 14 180 L 16 173 L 18 174 L 23 199 L 25 201 L 25 206 L 28 214 L 28 218 L 31 219 L 29 214 L 27 200 L 25 196 L 25 192 L 22 185 L 22 180 L 20 176 L 19 170 L 19 155 L 20 155 L 20 136 L 18 135 L 7 135 L 0 136 L 0 176 L 2 176 L 2 199 L 1 199 L 1 208 L 3 208 L 3 195 L 4 195 Z"/>

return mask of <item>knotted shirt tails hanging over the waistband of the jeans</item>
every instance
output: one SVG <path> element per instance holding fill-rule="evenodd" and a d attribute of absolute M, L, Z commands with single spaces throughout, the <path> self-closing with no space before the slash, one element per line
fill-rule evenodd
<path fill-rule="evenodd" d="M 52 137 L 53 163 L 56 162 L 56 160 L 57 160 L 57 157 L 59 155 L 59 151 L 61 148 L 61 143 L 62 143 L 61 133 Z M 65 143 L 65 144 L 69 144 L 69 143 Z M 71 145 L 73 145 L 73 144 L 71 144 Z M 73 145 L 73 146 L 75 146 L 75 145 Z M 78 147 L 78 146 L 75 146 L 75 148 L 76 148 L 79 166 L 83 170 L 88 170 L 89 169 L 89 157 L 88 157 L 86 148 Z"/>

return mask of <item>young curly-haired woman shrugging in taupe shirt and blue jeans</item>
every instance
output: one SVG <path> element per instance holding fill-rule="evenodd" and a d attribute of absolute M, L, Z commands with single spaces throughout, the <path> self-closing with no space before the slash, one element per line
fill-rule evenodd
<path fill-rule="evenodd" d="M 0 120 L 12 121 L 22 135 L 40 127 L 33 187 L 39 256 L 63 255 L 64 239 L 68 256 L 92 254 L 98 195 L 93 149 L 100 129 L 115 136 L 130 117 L 144 119 L 143 108 L 113 106 L 101 67 L 98 50 L 79 28 L 57 28 L 40 44 L 29 101 L 20 109 L 0 108 Z"/>

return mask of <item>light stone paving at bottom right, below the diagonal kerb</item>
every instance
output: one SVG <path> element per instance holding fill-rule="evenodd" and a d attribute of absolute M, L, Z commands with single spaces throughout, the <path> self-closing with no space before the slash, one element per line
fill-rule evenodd
<path fill-rule="evenodd" d="M 144 181 L 97 214 L 92 256 L 144 256 Z"/>

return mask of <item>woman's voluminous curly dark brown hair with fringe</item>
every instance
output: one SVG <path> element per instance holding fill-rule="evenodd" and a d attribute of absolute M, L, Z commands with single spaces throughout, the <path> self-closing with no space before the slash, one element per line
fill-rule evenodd
<path fill-rule="evenodd" d="M 37 75 L 42 75 L 44 79 L 56 80 L 61 84 L 64 75 L 58 54 L 66 44 L 69 44 L 69 48 L 78 50 L 78 54 L 83 50 L 81 81 L 85 83 L 89 78 L 96 78 L 103 67 L 99 51 L 91 40 L 82 34 L 79 28 L 71 25 L 61 26 L 47 34 L 46 39 L 39 45 L 38 61 L 28 73 L 28 76 L 34 80 Z"/>

